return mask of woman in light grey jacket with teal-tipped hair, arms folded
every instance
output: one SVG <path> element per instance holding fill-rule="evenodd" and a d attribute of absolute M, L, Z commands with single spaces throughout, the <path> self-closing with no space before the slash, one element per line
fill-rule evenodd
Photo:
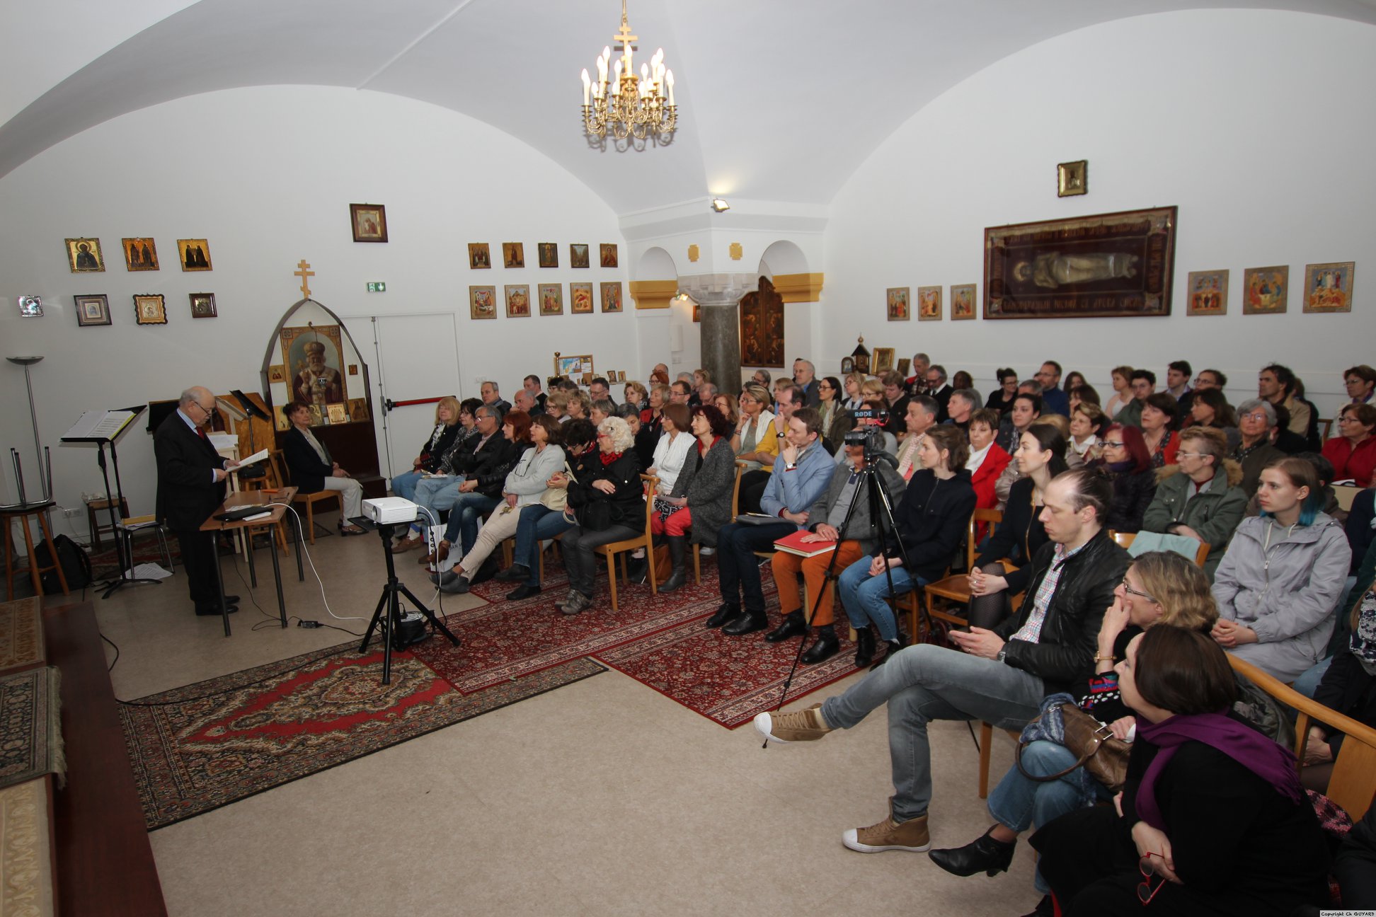
<path fill-rule="evenodd" d="M 1314 466 L 1284 458 L 1262 472 L 1262 514 L 1244 518 L 1214 575 L 1214 639 L 1282 682 L 1318 663 L 1333 632 L 1351 549 L 1322 513 Z"/>

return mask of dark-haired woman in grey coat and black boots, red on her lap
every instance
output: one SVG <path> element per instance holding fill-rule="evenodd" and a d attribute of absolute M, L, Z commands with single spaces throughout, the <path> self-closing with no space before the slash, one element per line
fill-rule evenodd
<path fill-rule="evenodd" d="M 703 404 L 694 408 L 689 429 L 694 448 L 673 488 L 655 500 L 656 507 L 665 503 L 671 510 L 667 516 L 656 513 L 649 520 L 654 533 L 663 535 L 669 542 L 673 564 L 673 572 L 659 587 L 660 593 L 673 593 L 688 582 L 685 558 L 689 529 L 694 544 L 713 547 L 717 531 L 731 521 L 731 492 L 736 485 L 736 459 L 727 439 L 731 423 L 714 404 Z"/>

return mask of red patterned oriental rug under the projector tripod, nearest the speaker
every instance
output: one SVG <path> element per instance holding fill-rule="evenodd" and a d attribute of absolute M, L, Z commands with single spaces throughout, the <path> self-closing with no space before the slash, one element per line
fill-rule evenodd
<path fill-rule="evenodd" d="M 406 652 L 383 685 L 383 653 L 356 646 L 121 704 L 149 830 L 607 671 L 574 659 L 468 693 Z"/>

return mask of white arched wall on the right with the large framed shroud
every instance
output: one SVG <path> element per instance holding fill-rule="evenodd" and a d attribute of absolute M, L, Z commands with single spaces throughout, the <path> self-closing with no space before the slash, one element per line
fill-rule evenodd
<path fill-rule="evenodd" d="M 926 351 L 1024 378 L 1044 359 L 1108 397 L 1109 367 L 1189 359 L 1255 396 L 1289 364 L 1332 417 L 1339 374 L 1370 363 L 1376 330 L 1376 29 L 1271 11 L 1171 12 L 1061 36 L 970 77 L 905 122 L 837 195 L 827 228 L 823 352 Z M 1055 165 L 1088 159 L 1084 197 L 1055 197 Z M 982 231 L 1179 206 L 1170 318 L 889 323 L 885 287 L 978 283 Z M 1355 261 L 1351 315 L 1303 315 L 1304 265 Z M 1288 264 L 1287 315 L 1244 316 L 1243 271 Z M 1226 316 L 1186 318 L 1189 271 L 1230 269 Z M 945 304 L 949 316 L 949 302 Z"/>

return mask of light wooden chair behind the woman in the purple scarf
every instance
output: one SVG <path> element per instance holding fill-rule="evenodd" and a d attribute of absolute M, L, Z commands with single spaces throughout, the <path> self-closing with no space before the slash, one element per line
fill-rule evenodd
<path fill-rule="evenodd" d="M 1309 744 L 1310 720 L 1331 726 L 1346 736 L 1333 760 L 1333 775 L 1328 781 L 1325 795 L 1342 806 L 1353 821 L 1361 821 L 1372 804 L 1372 797 L 1376 796 L 1376 729 L 1304 697 L 1232 653 L 1227 661 L 1233 665 L 1233 671 L 1247 675 L 1254 685 L 1296 711 L 1293 751 L 1299 759 L 1298 770 L 1304 770 L 1304 745 Z"/>

